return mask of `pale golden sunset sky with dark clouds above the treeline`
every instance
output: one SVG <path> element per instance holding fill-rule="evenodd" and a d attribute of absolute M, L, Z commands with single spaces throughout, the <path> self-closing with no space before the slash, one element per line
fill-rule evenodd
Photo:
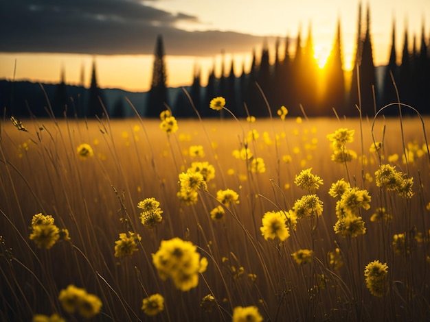
<path fill-rule="evenodd" d="M 405 28 L 410 47 L 414 36 L 419 47 L 423 27 L 429 42 L 429 0 L 362 1 L 363 22 L 367 7 L 376 65 L 388 60 L 394 21 L 399 62 Z M 67 84 L 89 86 L 95 62 L 100 87 L 148 90 L 159 34 L 172 87 L 190 85 L 195 71 L 205 85 L 213 66 L 220 76 L 221 62 L 229 71 L 234 61 L 240 75 L 264 42 L 274 55 L 277 38 L 283 53 L 290 37 L 293 53 L 299 32 L 304 41 L 311 31 L 323 66 L 338 20 L 350 69 L 358 8 L 359 0 L 1 0 L 0 79 L 57 83 L 63 70 Z"/>

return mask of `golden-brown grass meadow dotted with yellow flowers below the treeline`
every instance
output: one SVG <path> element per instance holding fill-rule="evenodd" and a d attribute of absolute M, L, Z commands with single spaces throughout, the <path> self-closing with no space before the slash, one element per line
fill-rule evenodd
<path fill-rule="evenodd" d="M 418 117 L 178 120 L 172 134 L 137 118 L 23 126 L 0 128 L 1 321 L 430 319 L 429 132 Z M 331 160 L 337 129 L 354 129 L 346 149 L 357 158 Z M 79 154 L 82 143 L 93 153 Z M 193 162 L 208 162 L 214 178 L 192 177 Z M 396 166 L 395 182 L 378 181 L 381 164 Z M 341 179 L 349 201 L 329 194 Z M 180 198 L 185 188 L 196 202 Z M 222 198 L 227 189 L 238 202 Z M 138 208 L 152 197 L 162 213 Z M 276 212 L 269 236 L 262 218 Z M 54 223 L 32 222 L 39 213 Z M 181 240 L 169 253 L 161 241 L 172 238 Z M 145 306 L 155 294 L 162 307 L 161 297 Z"/>

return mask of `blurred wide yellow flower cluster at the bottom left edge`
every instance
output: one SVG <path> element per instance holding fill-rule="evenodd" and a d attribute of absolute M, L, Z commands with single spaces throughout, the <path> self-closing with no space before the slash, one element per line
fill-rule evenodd
<path fill-rule="evenodd" d="M 58 299 L 66 312 L 78 311 L 85 319 L 95 316 L 102 308 L 102 301 L 97 295 L 89 294 L 83 288 L 78 288 L 72 284 L 60 290 Z"/>

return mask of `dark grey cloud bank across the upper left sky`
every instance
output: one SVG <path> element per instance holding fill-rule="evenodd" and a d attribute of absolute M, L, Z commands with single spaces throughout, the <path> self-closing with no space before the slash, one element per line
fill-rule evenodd
<path fill-rule="evenodd" d="M 157 35 L 169 55 L 251 51 L 262 37 L 236 32 L 187 32 L 172 14 L 137 0 L 1 0 L 0 51 L 89 54 L 153 53 Z"/>

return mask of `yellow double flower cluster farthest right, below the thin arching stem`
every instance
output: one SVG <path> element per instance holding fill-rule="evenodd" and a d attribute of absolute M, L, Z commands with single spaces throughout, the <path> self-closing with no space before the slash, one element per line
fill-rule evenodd
<path fill-rule="evenodd" d="M 400 197 L 411 198 L 414 195 L 414 177 L 405 177 L 404 173 L 398 172 L 396 166 L 391 164 L 381 164 L 375 172 L 375 181 L 376 186 L 394 190 Z"/>

